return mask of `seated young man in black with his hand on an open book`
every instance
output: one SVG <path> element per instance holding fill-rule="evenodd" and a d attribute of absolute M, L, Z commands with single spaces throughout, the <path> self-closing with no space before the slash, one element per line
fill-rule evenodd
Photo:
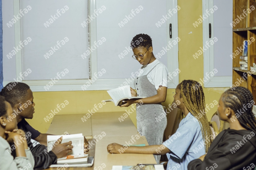
<path fill-rule="evenodd" d="M 51 164 L 55 164 L 57 162 L 57 158 L 64 157 L 70 151 L 72 151 L 72 142 L 61 143 L 62 138 L 60 138 L 56 142 L 56 145 L 53 146 L 52 151 L 47 153 L 46 146 L 41 145 L 38 142 L 35 143 L 34 140 L 31 140 L 31 137 L 33 137 L 35 138 L 35 140 L 38 140 L 39 142 L 46 144 L 47 135 L 49 134 L 39 134 L 40 132 L 32 128 L 25 120 L 25 118 L 32 119 L 33 114 L 35 112 L 33 92 L 25 83 L 16 83 L 16 85 L 12 87 L 11 85 L 13 83 L 16 82 L 8 83 L 0 92 L 0 95 L 5 97 L 6 101 L 11 104 L 14 111 L 13 116 L 9 118 L 9 121 L 16 118 L 18 122 L 18 128 L 23 130 L 26 134 L 28 132 L 31 134 L 31 136 L 28 136 L 27 138 L 27 143 L 34 156 L 34 169 L 46 169 Z M 87 146 L 87 140 L 85 139 L 85 148 Z M 87 149 L 85 151 L 87 151 Z"/>

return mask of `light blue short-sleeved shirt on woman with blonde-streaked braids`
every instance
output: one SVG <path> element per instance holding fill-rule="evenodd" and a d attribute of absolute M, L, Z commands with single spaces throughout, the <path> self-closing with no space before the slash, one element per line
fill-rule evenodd
<path fill-rule="evenodd" d="M 167 170 L 187 170 L 190 161 L 205 154 L 200 122 L 191 114 L 182 119 L 176 133 L 163 145 L 171 152 L 167 153 Z"/>

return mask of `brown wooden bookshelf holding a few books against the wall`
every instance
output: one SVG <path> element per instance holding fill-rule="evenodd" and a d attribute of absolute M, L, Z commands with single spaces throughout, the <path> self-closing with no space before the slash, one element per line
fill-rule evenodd
<path fill-rule="evenodd" d="M 256 8 L 256 0 L 233 0 L 233 21 L 238 21 L 238 16 L 243 16 L 244 10 L 252 9 L 251 6 Z M 256 101 L 256 71 L 252 73 L 250 67 L 253 66 L 254 58 L 256 58 L 256 9 L 251 13 L 246 13 L 244 19 L 239 19 L 240 22 L 233 26 L 233 54 L 236 54 L 238 48 L 243 47 L 244 40 L 252 40 L 251 44 L 248 43 L 248 68 L 247 70 L 240 69 L 240 55 L 233 56 L 233 85 L 238 85 L 248 88 Z M 245 14 L 244 14 L 245 15 Z M 240 82 L 239 80 L 244 80 Z"/>

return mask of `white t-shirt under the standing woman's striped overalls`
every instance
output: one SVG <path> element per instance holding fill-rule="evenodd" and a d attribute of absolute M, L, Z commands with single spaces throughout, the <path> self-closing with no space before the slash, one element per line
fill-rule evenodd
<path fill-rule="evenodd" d="M 154 69 L 152 70 L 152 68 Z M 150 72 L 150 70 L 152 71 Z M 148 74 L 148 72 L 150 73 Z M 159 62 L 158 59 L 156 59 L 154 62 L 151 62 L 150 64 L 142 66 L 138 77 L 141 77 L 146 74 L 148 74 L 147 78 L 150 81 L 150 83 L 155 85 L 156 90 L 159 88 L 159 86 L 167 87 L 168 70 L 163 63 Z"/>

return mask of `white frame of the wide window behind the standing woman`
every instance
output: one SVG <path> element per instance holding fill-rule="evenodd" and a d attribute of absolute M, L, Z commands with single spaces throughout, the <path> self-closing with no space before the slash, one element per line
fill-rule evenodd
<path fill-rule="evenodd" d="M 20 10 L 20 0 L 13 0 L 14 3 L 14 15 L 17 15 Z M 89 15 L 92 15 L 93 11 L 96 9 L 96 0 L 88 0 L 89 5 Z M 166 11 L 169 9 L 173 9 L 177 6 L 177 0 L 166 1 Z M 97 18 L 96 18 L 97 19 Z M 89 24 L 89 33 L 90 33 L 90 42 L 97 41 L 97 20 L 94 19 Z M 178 17 L 177 13 L 170 17 L 166 21 L 167 26 L 167 35 L 169 35 L 169 23 L 172 23 L 172 34 L 173 38 L 167 38 L 167 44 L 169 40 L 174 40 L 178 37 Z M 15 29 L 15 46 L 19 45 L 21 41 L 21 27 L 20 27 L 20 20 L 18 20 L 14 24 Z M 91 43 L 90 43 L 91 47 Z M 21 49 L 22 50 L 22 49 Z M 19 75 L 22 72 L 22 59 L 21 59 L 21 51 L 16 54 L 16 75 Z M 98 72 L 97 66 L 97 51 L 91 53 L 90 56 L 90 78 L 91 79 L 70 79 L 70 80 L 58 80 L 54 86 L 52 86 L 47 91 L 82 91 L 81 86 L 83 84 L 87 84 L 88 82 L 90 85 L 87 87 L 86 91 L 88 90 L 110 90 L 113 88 L 119 87 L 123 84 L 126 79 L 97 79 L 95 82 L 92 82 L 92 73 Z M 179 68 L 178 66 L 178 44 L 173 46 L 172 49 L 167 51 L 167 68 L 170 73 L 173 73 L 175 70 Z M 177 71 L 176 71 L 177 72 Z M 95 77 L 94 77 L 95 78 Z M 95 79 L 94 79 L 95 80 Z M 46 91 L 44 86 L 49 83 L 51 80 L 22 80 L 23 83 L 26 83 L 30 86 L 32 91 Z M 91 83 L 92 82 L 92 83 Z M 3 85 L 5 86 L 10 82 L 4 81 Z M 168 82 L 168 88 L 176 88 L 179 83 L 179 75 L 173 78 L 173 82 Z M 133 85 L 131 85 L 132 88 Z"/>

